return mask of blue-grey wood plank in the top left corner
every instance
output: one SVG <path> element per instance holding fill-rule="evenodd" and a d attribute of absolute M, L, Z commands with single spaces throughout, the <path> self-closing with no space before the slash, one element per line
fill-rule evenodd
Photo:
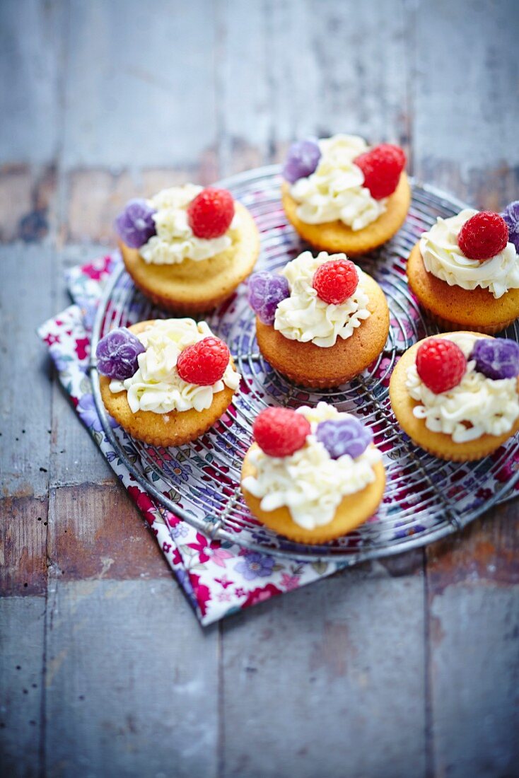
<path fill-rule="evenodd" d="M 0 3 L 0 163 L 49 163 L 58 152 L 63 3 Z"/>

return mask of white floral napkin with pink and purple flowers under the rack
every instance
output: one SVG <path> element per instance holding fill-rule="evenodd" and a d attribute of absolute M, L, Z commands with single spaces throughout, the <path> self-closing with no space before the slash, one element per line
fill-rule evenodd
<path fill-rule="evenodd" d="M 156 503 L 117 457 L 103 433 L 87 368 L 97 304 L 119 261 L 119 254 L 114 253 L 68 271 L 68 288 L 75 304 L 42 324 L 38 335 L 48 346 L 79 418 L 142 511 L 202 625 L 335 573 L 341 567 L 335 562 L 281 560 L 230 542 L 210 541 Z M 168 456 L 167 450 L 161 453 Z M 177 475 L 182 478 L 184 474 Z"/>

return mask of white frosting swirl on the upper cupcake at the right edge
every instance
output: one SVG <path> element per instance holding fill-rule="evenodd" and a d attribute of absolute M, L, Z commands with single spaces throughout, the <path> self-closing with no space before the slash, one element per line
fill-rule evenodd
<path fill-rule="evenodd" d="M 420 238 L 423 264 L 449 286 L 488 289 L 497 299 L 509 289 L 519 289 L 519 256 L 512 243 L 495 257 L 479 261 L 465 257 L 458 246 L 461 227 L 478 211 L 467 208 L 449 219 L 438 219 L 428 233 Z"/>

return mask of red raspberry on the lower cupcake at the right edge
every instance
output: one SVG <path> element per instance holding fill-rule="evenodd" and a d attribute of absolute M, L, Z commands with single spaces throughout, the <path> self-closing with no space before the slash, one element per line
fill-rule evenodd
<path fill-rule="evenodd" d="M 440 394 L 454 389 L 467 370 L 460 347 L 447 338 L 427 338 L 416 352 L 416 372 L 430 391 Z"/>

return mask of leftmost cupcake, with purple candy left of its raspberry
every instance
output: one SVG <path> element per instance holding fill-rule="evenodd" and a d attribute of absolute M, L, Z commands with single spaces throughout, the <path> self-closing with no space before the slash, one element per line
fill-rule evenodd
<path fill-rule="evenodd" d="M 205 321 L 141 321 L 105 335 L 97 370 L 107 412 L 153 446 L 181 446 L 205 433 L 240 384 L 229 349 Z"/>

